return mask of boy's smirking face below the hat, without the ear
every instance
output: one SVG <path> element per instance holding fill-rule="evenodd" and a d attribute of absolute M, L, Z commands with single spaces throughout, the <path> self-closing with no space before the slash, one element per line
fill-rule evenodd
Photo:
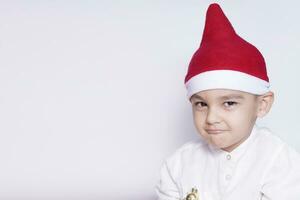
<path fill-rule="evenodd" d="M 191 97 L 194 123 L 210 144 L 231 152 L 250 135 L 259 97 L 237 90 L 213 89 Z"/>

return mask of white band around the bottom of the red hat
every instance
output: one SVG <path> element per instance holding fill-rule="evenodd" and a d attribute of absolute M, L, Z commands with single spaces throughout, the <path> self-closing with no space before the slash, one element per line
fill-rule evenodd
<path fill-rule="evenodd" d="M 210 89 L 239 90 L 257 95 L 270 91 L 269 82 L 234 70 L 202 72 L 187 81 L 185 86 L 188 99 L 195 93 Z"/>

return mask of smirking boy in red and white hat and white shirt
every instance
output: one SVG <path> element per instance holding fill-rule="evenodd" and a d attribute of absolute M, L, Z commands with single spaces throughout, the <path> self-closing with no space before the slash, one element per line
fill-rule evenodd
<path fill-rule="evenodd" d="M 300 200 L 300 156 L 255 125 L 273 103 L 261 53 L 236 34 L 218 4 L 185 77 L 202 140 L 163 163 L 159 200 Z"/>

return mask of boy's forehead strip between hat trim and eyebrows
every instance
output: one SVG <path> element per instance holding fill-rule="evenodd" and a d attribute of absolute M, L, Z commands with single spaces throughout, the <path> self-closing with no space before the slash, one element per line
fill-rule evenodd
<path fill-rule="evenodd" d="M 253 97 L 255 97 L 255 95 L 247 93 L 247 92 L 238 91 L 238 90 L 213 89 L 213 90 L 204 90 L 204 91 L 198 92 L 191 97 L 191 100 L 192 99 L 202 99 L 202 100 L 248 99 L 248 98 L 253 98 Z"/>

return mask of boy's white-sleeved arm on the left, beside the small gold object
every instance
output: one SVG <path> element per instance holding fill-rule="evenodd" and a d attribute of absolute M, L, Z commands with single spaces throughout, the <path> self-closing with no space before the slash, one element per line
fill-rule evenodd
<path fill-rule="evenodd" d="M 179 188 L 175 182 L 174 169 L 164 162 L 160 170 L 160 180 L 156 185 L 158 200 L 180 200 Z"/>

